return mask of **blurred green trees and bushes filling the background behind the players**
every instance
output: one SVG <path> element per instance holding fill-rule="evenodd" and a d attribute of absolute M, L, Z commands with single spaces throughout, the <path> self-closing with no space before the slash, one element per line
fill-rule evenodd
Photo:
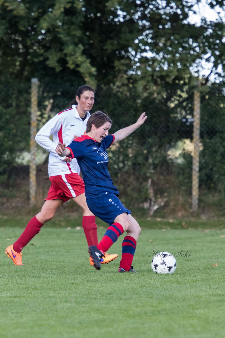
<path fill-rule="evenodd" d="M 202 15 L 193 23 L 201 2 L 0 1 L 2 212 L 29 208 L 31 78 L 37 77 L 38 129 L 83 84 L 96 89 L 92 112 L 110 115 L 112 133 L 146 112 L 142 128 L 109 150 L 121 200 L 146 216 L 191 215 L 193 93 L 200 90 L 199 214 L 224 217 L 223 1 L 206 0 L 216 18 Z M 37 149 L 40 208 L 50 181 L 48 153 Z M 64 209 L 76 210 L 74 203 Z"/>

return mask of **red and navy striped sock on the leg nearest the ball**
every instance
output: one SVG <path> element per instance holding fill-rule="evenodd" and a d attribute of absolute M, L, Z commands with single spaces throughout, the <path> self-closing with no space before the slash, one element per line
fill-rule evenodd
<path fill-rule="evenodd" d="M 131 268 L 137 242 L 131 236 L 125 236 L 122 242 L 122 259 L 120 261 L 120 268 L 128 271 Z"/>

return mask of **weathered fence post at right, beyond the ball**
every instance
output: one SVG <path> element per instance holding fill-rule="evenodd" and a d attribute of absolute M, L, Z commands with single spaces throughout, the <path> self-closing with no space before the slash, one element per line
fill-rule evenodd
<path fill-rule="evenodd" d="M 194 126 L 192 158 L 192 211 L 198 211 L 199 197 L 199 145 L 200 145 L 200 82 L 199 89 L 194 91 Z"/>

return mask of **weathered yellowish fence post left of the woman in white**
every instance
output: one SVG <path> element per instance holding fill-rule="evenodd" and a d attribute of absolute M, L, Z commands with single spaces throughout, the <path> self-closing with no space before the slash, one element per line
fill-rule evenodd
<path fill-rule="evenodd" d="M 31 114 L 30 114 L 30 206 L 36 202 L 36 142 L 37 132 L 38 78 L 31 79 Z"/>

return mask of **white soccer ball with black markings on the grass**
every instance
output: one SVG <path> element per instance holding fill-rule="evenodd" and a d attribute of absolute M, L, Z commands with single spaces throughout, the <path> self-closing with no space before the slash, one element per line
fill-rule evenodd
<path fill-rule="evenodd" d="M 153 257 L 151 268 L 156 273 L 173 273 L 176 270 L 176 260 L 169 252 L 159 252 Z"/>

